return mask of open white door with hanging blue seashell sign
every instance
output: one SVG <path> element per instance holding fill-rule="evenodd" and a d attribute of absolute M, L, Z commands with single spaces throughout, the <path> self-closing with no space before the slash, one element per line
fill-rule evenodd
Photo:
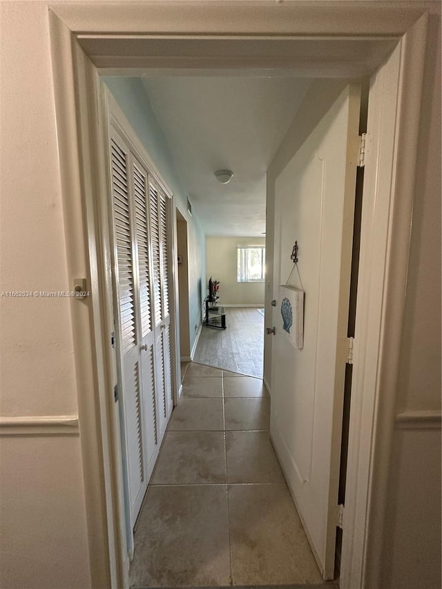
<path fill-rule="evenodd" d="M 359 110 L 348 86 L 276 179 L 271 438 L 324 579 L 338 525 Z M 278 285 L 292 269 L 289 285 L 305 292 L 301 349 L 282 327 Z"/>

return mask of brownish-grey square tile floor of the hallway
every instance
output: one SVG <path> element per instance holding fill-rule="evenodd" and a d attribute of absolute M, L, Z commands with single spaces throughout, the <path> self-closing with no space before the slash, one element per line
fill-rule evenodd
<path fill-rule="evenodd" d="M 262 380 L 183 367 L 135 527 L 131 586 L 321 583 L 269 440 L 269 412 Z"/>

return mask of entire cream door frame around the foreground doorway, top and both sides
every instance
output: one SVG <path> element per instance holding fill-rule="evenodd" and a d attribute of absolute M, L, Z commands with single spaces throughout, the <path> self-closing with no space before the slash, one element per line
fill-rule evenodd
<path fill-rule="evenodd" d="M 378 106 L 378 115 L 371 137 L 375 163 L 365 173 L 365 182 L 372 186 L 372 197 L 365 203 L 363 214 L 365 238 L 361 244 L 359 336 L 354 352 L 352 452 L 349 453 L 347 483 L 350 508 L 345 514 L 340 581 L 345 589 L 375 587 L 381 557 L 379 540 L 385 513 L 405 306 L 427 5 L 398 1 L 395 6 L 384 6 L 380 10 L 373 6 L 377 3 L 372 6 L 364 3 L 361 8 L 361 3 L 356 1 L 343 4 L 312 1 L 308 6 L 302 2 L 276 6 L 274 2 L 263 2 L 250 10 L 246 3 L 238 1 L 214 2 L 211 10 L 206 10 L 204 4 L 168 3 L 167 0 L 146 4 L 127 1 L 114 6 L 99 6 L 88 1 L 55 2 L 49 10 L 68 275 L 70 279 L 86 277 L 91 293 L 90 301 L 71 306 L 71 318 L 92 584 L 113 588 L 128 586 L 119 467 L 121 450 L 113 400 L 115 365 L 109 338 L 113 331 L 109 242 L 106 207 L 102 208 L 106 202 L 106 168 L 99 155 L 104 153 L 103 117 L 97 99 L 99 72 L 94 63 L 106 66 L 106 73 L 126 75 L 128 65 L 137 64 L 139 68 L 175 70 L 189 68 L 189 64 L 197 68 L 219 68 L 222 64 L 224 68 L 245 67 L 267 72 L 269 62 L 264 63 L 259 52 L 244 64 L 240 57 L 220 58 L 215 46 L 220 39 L 252 39 L 259 48 L 260 40 L 268 41 L 269 35 L 276 35 L 306 44 L 307 57 L 302 55 L 297 62 L 292 59 L 295 75 L 296 72 L 314 75 L 315 71 L 320 75 L 320 68 L 324 71 L 326 64 L 323 53 L 318 63 L 314 63 L 316 48 L 323 50 L 327 43 L 336 44 L 337 41 L 343 52 L 347 41 L 356 37 L 369 39 L 375 45 L 394 39 L 397 45 L 394 68 L 398 84 L 390 84 L 390 79 L 384 75 L 376 91 L 370 90 L 370 101 Z M 267 36 L 263 36 L 262 31 Z M 179 45 L 189 36 L 199 36 L 201 43 L 197 55 L 188 60 L 164 57 L 161 51 L 155 58 L 136 55 L 137 41 L 154 39 L 160 45 L 162 41 Z M 94 52 L 90 59 L 79 43 L 86 37 L 93 41 Z M 113 47 L 113 55 L 109 55 L 109 46 Z M 351 51 L 347 51 L 347 57 L 353 59 Z M 349 75 L 345 56 L 335 61 L 334 75 L 343 77 L 346 72 Z M 287 61 L 275 58 L 273 66 L 284 69 Z M 363 66 L 359 63 L 354 68 L 358 70 Z M 133 75 L 135 71 L 132 70 Z M 392 128 L 385 126 L 388 117 Z M 403 137 L 407 140 L 401 141 Z M 390 168 L 384 164 L 385 153 Z M 172 251 L 176 286 L 175 244 Z M 176 312 L 175 307 L 175 320 Z M 176 358 L 175 337 L 175 364 Z"/>

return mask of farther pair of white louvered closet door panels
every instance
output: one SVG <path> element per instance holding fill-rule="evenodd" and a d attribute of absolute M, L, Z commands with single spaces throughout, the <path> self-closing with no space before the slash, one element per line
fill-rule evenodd
<path fill-rule="evenodd" d="M 157 374 L 157 423 L 164 432 L 173 409 L 169 271 L 169 197 L 150 178 L 149 204 Z"/>

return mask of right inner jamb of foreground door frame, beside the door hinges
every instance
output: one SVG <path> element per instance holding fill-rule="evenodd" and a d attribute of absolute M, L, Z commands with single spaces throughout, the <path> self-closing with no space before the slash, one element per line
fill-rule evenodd
<path fill-rule="evenodd" d="M 352 402 L 349 417 L 346 533 L 341 560 L 342 589 L 362 588 L 367 550 L 374 404 L 383 316 L 384 272 L 392 199 L 401 46 L 376 73 L 369 93 L 367 154 L 363 186 Z M 375 238 L 376 235 L 376 238 Z M 381 272 L 378 272 L 382 268 Z M 395 394 L 392 394 L 394 398 Z"/>

